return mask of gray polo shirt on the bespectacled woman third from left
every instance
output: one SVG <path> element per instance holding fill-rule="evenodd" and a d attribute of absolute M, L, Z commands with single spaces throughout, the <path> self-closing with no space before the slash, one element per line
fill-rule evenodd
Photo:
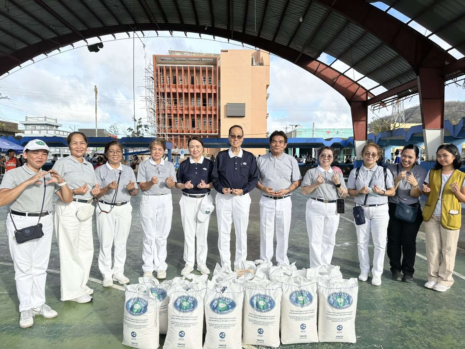
<path fill-rule="evenodd" d="M 131 200 L 131 194 L 129 194 L 129 190 L 126 189 L 126 185 L 129 184 L 129 181 L 136 181 L 136 176 L 134 175 L 132 168 L 120 164 L 119 168 L 114 169 L 107 162 L 105 165 L 99 166 L 95 169 L 95 176 L 97 177 L 97 183 L 100 184 L 100 188 L 106 187 L 113 181 L 118 181 L 119 177 L 120 184 L 118 185 L 118 193 L 116 194 L 114 202 L 125 202 Z M 134 188 L 139 188 L 137 183 L 134 183 Z M 115 189 L 110 189 L 106 192 L 106 194 L 100 196 L 99 200 L 112 202 L 114 194 Z"/>

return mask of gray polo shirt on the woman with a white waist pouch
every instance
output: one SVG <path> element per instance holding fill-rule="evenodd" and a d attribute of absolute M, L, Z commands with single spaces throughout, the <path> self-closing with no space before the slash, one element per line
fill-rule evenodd
<path fill-rule="evenodd" d="M 91 199 L 92 194 L 90 191 L 98 181 L 97 177 L 95 177 L 92 163 L 86 161 L 84 158 L 83 160 L 84 161 L 80 163 L 72 155 L 69 155 L 65 158 L 58 159 L 53 165 L 53 169 L 66 181 L 70 189 L 82 187 L 87 183 L 89 190 L 87 190 L 86 194 L 76 194 L 74 197 L 76 199 Z M 60 187 L 55 186 L 55 191 L 58 191 L 58 189 L 60 189 Z"/>

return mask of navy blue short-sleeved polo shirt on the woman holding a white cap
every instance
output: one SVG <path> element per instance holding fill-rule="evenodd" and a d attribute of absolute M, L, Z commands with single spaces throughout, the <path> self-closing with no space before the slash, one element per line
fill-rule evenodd
<path fill-rule="evenodd" d="M 194 188 L 192 189 L 182 189 L 182 191 L 186 194 L 206 194 L 209 193 L 211 189 L 197 188 L 197 184 L 199 184 L 202 180 L 205 181 L 206 184 L 212 182 L 212 171 L 213 171 L 213 162 L 204 158 L 203 156 L 200 157 L 199 162 L 194 162 L 192 157 L 189 160 L 182 161 L 179 165 L 178 172 L 176 174 L 176 178 L 178 179 L 178 183 L 186 183 L 191 181 Z"/>

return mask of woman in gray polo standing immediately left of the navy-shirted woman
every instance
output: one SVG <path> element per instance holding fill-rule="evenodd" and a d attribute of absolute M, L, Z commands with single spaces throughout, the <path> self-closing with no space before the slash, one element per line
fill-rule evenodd
<path fill-rule="evenodd" d="M 140 224 L 144 232 L 142 259 L 144 277 L 157 272 L 158 279 L 166 278 L 166 239 L 171 230 L 173 199 L 171 189 L 176 183 L 176 172 L 170 161 L 163 159 L 166 144 L 154 138 L 149 145 L 152 157 L 139 165 L 137 183 L 142 190 Z"/>

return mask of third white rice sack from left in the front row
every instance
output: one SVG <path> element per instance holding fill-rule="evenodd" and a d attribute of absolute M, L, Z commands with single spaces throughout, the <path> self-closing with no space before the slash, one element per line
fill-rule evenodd
<path fill-rule="evenodd" d="M 205 296 L 206 336 L 203 349 L 242 348 L 244 289 L 232 282 L 207 284 Z"/>

